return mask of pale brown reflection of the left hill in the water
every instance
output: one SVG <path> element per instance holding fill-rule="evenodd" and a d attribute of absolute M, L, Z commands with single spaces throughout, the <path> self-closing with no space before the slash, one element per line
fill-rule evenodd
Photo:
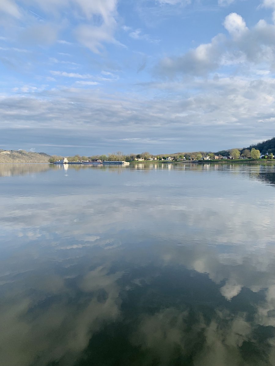
<path fill-rule="evenodd" d="M 0 177 L 40 173 L 49 170 L 49 164 L 0 164 Z"/>

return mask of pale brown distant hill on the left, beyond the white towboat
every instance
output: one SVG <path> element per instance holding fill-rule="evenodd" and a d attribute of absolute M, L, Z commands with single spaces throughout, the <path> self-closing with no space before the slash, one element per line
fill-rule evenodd
<path fill-rule="evenodd" d="M 0 163 L 48 163 L 51 156 L 25 150 L 0 150 Z"/>

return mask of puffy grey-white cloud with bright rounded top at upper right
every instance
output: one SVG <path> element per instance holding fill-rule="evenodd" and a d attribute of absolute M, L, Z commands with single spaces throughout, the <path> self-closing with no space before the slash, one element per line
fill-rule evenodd
<path fill-rule="evenodd" d="M 271 71 L 275 64 L 275 26 L 260 20 L 248 28 L 245 20 L 231 13 L 224 20 L 229 37 L 218 34 L 209 44 L 201 44 L 182 56 L 165 57 L 157 72 L 165 77 L 179 74 L 205 76 L 224 66 L 235 66 L 243 72 Z"/>

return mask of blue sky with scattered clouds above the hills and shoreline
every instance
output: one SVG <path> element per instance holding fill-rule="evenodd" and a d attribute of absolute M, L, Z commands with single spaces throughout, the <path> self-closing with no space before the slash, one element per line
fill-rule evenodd
<path fill-rule="evenodd" d="M 275 0 L 1 0 L 0 148 L 152 154 L 274 136 Z"/>

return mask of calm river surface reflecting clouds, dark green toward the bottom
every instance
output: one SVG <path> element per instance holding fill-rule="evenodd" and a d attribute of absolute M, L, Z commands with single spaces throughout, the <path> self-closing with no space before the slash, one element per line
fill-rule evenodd
<path fill-rule="evenodd" d="M 275 365 L 275 167 L 0 165 L 0 364 Z"/>

